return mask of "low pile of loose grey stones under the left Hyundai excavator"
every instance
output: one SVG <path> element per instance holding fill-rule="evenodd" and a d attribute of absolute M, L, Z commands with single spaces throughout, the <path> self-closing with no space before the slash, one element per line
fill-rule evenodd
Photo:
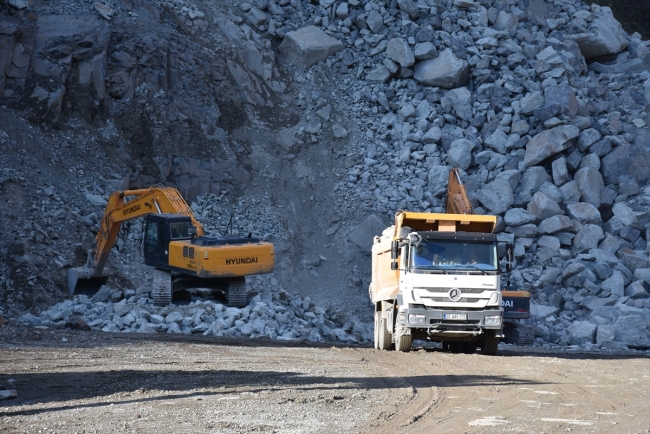
<path fill-rule="evenodd" d="M 236 308 L 212 299 L 156 307 L 150 297 L 150 286 L 125 291 L 104 286 L 92 299 L 75 296 L 74 300 L 58 303 L 40 316 L 24 314 L 19 322 L 104 332 L 371 343 L 371 323 L 348 319 L 345 312 L 317 307 L 309 297 L 289 297 L 272 278 L 251 278 L 249 287 L 262 292 L 253 296 L 248 306 Z"/>

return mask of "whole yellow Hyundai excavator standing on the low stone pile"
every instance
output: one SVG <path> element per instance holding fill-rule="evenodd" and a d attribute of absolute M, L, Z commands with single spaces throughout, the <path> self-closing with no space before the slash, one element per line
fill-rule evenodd
<path fill-rule="evenodd" d="M 208 235 L 178 190 L 151 187 L 116 191 L 97 231 L 94 253 L 86 265 L 68 270 L 68 293 L 105 283 L 104 266 L 123 222 L 145 217 L 144 263 L 153 267 L 152 297 L 157 306 L 186 297 L 193 288 L 226 295 L 228 304 L 246 305 L 246 276 L 270 273 L 274 265 L 271 243 L 250 235 Z"/>

